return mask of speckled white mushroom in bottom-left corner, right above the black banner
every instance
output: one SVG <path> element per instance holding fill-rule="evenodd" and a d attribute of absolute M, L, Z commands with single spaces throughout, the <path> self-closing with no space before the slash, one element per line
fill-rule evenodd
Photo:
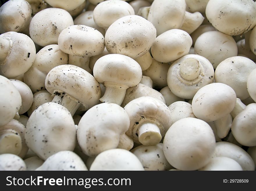
<path fill-rule="evenodd" d="M 14 154 L 1 154 L 0 155 L 0 170 L 11 171 L 11 170 L 26 170 L 26 164 L 17 155 Z"/>

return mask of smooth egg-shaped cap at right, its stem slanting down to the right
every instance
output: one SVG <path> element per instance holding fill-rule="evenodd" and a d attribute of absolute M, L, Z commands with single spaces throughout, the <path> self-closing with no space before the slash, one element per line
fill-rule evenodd
<path fill-rule="evenodd" d="M 196 92 L 192 100 L 192 110 L 198 119 L 211 122 L 229 114 L 236 100 L 236 93 L 230 86 L 211 83 Z"/>

